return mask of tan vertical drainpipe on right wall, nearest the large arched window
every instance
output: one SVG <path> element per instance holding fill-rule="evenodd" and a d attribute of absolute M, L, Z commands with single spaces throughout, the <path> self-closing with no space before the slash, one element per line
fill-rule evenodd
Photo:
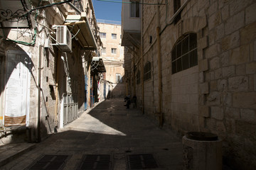
<path fill-rule="evenodd" d="M 163 125 L 164 115 L 162 113 L 162 75 L 161 75 L 161 37 L 160 37 L 160 6 L 157 7 L 156 19 L 158 26 L 156 27 L 157 33 L 157 60 L 158 60 L 158 78 L 159 78 L 159 126 Z"/>

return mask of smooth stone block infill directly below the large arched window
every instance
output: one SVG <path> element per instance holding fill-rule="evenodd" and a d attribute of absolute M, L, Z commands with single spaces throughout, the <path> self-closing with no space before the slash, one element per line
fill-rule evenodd
<path fill-rule="evenodd" d="M 198 131 L 198 67 L 171 75 L 171 121 L 179 131 Z"/>

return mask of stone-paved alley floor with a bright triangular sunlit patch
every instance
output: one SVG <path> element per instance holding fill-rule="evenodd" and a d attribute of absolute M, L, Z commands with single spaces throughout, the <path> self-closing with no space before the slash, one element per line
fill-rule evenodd
<path fill-rule="evenodd" d="M 119 98 L 102 101 L 90 112 L 85 111 L 73 123 L 0 169 L 26 169 L 39 158 L 48 161 L 41 162 L 45 168 L 50 163 L 61 165 L 65 160 L 63 169 L 91 165 L 91 169 L 106 166 L 114 170 L 175 170 L 182 169 L 182 144 L 171 130 L 158 128 L 136 108 L 125 108 L 124 100 Z"/>

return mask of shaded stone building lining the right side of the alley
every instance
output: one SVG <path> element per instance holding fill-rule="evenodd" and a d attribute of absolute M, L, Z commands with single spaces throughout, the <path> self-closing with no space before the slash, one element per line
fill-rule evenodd
<path fill-rule="evenodd" d="M 255 1 L 123 1 L 139 108 L 183 135 L 217 134 L 224 164 L 256 169 Z"/>

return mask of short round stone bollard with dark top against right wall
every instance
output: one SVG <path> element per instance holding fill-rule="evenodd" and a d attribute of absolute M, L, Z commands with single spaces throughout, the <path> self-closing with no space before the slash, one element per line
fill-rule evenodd
<path fill-rule="evenodd" d="M 182 138 L 183 170 L 222 170 L 222 140 L 207 132 L 188 132 Z"/>

